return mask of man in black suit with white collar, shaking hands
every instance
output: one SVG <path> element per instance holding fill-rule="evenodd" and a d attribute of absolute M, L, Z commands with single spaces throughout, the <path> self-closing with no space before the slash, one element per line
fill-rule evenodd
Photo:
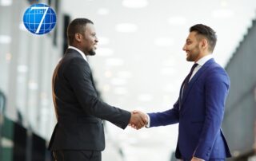
<path fill-rule="evenodd" d="M 102 120 L 119 128 L 142 128 L 146 116 L 127 112 L 98 98 L 86 56 L 95 55 L 98 43 L 94 23 L 77 18 L 67 29 L 69 48 L 53 76 L 53 99 L 58 123 L 49 148 L 57 161 L 101 161 L 105 148 Z"/>

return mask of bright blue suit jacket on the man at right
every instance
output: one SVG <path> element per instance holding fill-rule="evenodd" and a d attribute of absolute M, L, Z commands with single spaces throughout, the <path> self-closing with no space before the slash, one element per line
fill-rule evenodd
<path fill-rule="evenodd" d="M 210 59 L 192 77 L 183 95 L 180 92 L 174 108 L 149 113 L 150 127 L 179 123 L 176 158 L 209 160 L 231 156 L 221 130 L 229 87 L 225 70 Z"/>

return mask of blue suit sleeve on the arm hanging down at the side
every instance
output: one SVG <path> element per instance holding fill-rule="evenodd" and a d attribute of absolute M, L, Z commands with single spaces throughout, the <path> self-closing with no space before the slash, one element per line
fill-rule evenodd
<path fill-rule="evenodd" d="M 230 81 L 226 73 L 213 73 L 206 79 L 206 118 L 194 156 L 208 160 L 220 132 Z"/>

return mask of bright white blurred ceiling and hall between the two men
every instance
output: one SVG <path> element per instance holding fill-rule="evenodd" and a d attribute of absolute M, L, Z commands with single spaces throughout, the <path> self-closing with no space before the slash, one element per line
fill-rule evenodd
<path fill-rule="evenodd" d="M 134 6 L 134 2 L 138 6 Z M 255 18 L 255 0 L 63 0 L 72 18 L 94 22 L 99 45 L 90 65 L 102 98 L 126 110 L 172 108 L 191 63 L 182 51 L 190 26 L 202 23 L 218 34 L 214 57 L 223 67 Z M 128 28 L 124 28 L 128 26 Z M 125 32 L 126 31 L 126 32 Z M 126 161 L 169 160 L 178 125 L 122 131 L 107 124 Z"/>

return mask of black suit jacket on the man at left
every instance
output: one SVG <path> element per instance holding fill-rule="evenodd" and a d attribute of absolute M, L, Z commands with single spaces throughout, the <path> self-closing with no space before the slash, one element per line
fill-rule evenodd
<path fill-rule="evenodd" d="M 53 76 L 53 99 L 58 123 L 49 149 L 94 150 L 105 148 L 102 120 L 126 128 L 130 112 L 99 100 L 90 66 L 74 49 L 67 49 Z"/>

